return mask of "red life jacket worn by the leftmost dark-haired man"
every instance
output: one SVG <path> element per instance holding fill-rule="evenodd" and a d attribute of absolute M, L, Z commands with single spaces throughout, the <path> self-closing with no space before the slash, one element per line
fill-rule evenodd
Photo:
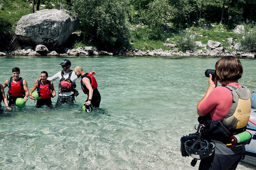
<path fill-rule="evenodd" d="M 8 80 L 8 95 L 12 97 L 25 96 L 25 90 L 23 89 L 23 79 L 19 78 L 19 80 L 14 83 L 12 77 Z"/>

